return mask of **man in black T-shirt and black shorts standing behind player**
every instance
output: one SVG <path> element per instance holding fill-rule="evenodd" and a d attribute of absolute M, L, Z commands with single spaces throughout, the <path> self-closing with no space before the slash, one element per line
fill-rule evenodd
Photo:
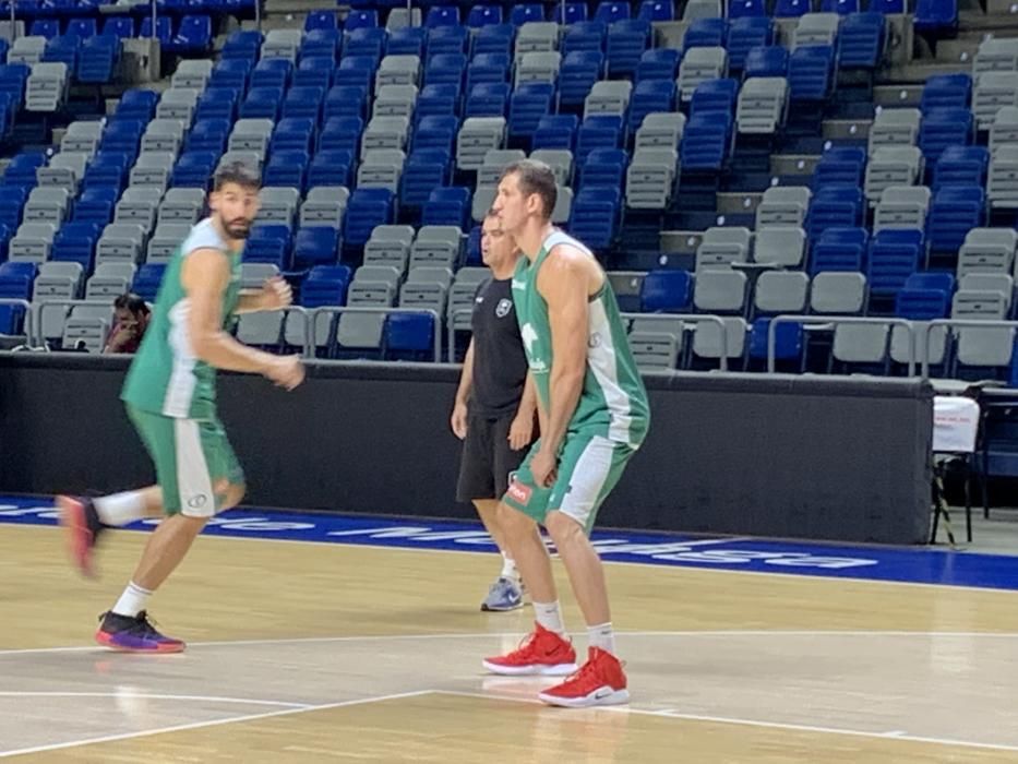
<path fill-rule="evenodd" d="M 532 440 L 537 398 L 513 307 L 511 280 L 519 251 L 492 213 L 481 231 L 481 258 L 492 278 L 479 288 L 474 302 L 474 336 L 453 407 L 453 432 L 464 441 L 456 499 L 474 502 L 502 553 L 502 573 L 481 610 L 505 611 L 523 607 L 523 587 L 500 527 L 499 499 Z"/>

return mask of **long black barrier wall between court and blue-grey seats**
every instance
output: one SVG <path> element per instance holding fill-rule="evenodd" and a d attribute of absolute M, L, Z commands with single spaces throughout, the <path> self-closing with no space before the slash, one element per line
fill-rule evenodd
<path fill-rule="evenodd" d="M 118 398 L 127 358 L 0 356 L 0 491 L 151 482 Z M 315 365 L 284 393 L 220 378 L 247 503 L 472 516 L 454 503 L 458 369 Z M 647 378 L 652 423 L 599 525 L 921 544 L 933 398 L 911 380 L 676 373 Z"/>

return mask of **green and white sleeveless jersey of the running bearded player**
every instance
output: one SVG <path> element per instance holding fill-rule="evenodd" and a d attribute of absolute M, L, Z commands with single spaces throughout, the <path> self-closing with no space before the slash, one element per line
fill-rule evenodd
<path fill-rule="evenodd" d="M 240 297 L 240 252 L 205 218 L 173 254 L 156 296 L 152 321 L 134 356 L 121 399 L 143 411 L 180 419 L 215 416 L 216 370 L 194 355 L 188 317 L 190 301 L 181 283 L 184 259 L 199 249 L 216 249 L 230 260 L 230 283 L 223 295 L 223 327 L 229 329 Z"/>

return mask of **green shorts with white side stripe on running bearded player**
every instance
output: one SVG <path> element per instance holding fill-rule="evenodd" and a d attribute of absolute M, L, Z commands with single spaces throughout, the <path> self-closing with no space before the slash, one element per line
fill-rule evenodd
<path fill-rule="evenodd" d="M 212 517 L 243 470 L 216 419 L 176 419 L 128 404 L 128 416 L 156 465 L 166 514 Z"/>

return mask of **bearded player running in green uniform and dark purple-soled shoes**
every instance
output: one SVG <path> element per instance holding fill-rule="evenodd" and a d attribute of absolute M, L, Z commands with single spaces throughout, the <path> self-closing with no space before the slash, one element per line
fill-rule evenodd
<path fill-rule="evenodd" d="M 259 373 L 286 390 L 301 383 L 297 356 L 249 348 L 229 333 L 236 313 L 279 310 L 290 288 L 272 279 L 241 291 L 240 256 L 259 207 L 259 176 L 243 164 L 220 168 L 212 215 L 195 225 L 170 261 L 152 323 L 128 371 L 121 398 L 155 463 L 157 486 L 91 501 L 59 497 L 74 561 L 92 573 L 96 539 L 110 526 L 165 515 L 131 583 L 100 617 L 96 641 L 119 650 L 178 653 L 184 643 L 156 631 L 146 607 L 205 523 L 236 506 L 244 478 L 216 414 L 216 369 Z"/>

